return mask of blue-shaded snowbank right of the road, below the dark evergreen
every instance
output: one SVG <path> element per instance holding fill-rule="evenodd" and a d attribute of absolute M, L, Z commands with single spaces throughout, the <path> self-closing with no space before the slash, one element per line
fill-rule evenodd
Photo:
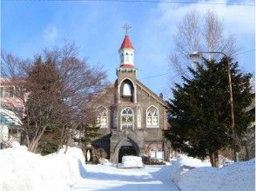
<path fill-rule="evenodd" d="M 239 161 L 223 168 L 210 166 L 208 161 L 199 161 L 181 155 L 172 161 L 172 181 L 182 191 L 253 191 L 255 189 L 255 159 Z"/>

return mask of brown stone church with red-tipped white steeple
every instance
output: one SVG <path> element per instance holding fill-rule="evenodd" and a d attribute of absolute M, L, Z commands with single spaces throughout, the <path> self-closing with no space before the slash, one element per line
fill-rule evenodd
<path fill-rule="evenodd" d="M 120 162 L 123 155 L 167 160 L 170 148 L 163 138 L 168 126 L 166 102 L 138 81 L 135 51 L 127 32 L 118 53 L 118 79 L 98 95 L 101 136 L 91 145 L 106 153 L 112 163 Z"/>

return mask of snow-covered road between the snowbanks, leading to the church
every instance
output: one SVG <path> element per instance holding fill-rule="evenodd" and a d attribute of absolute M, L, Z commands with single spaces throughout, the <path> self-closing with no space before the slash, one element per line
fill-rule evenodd
<path fill-rule="evenodd" d="M 84 180 L 73 185 L 72 191 L 178 191 L 169 175 L 170 166 L 161 168 L 116 168 L 87 165 Z"/>

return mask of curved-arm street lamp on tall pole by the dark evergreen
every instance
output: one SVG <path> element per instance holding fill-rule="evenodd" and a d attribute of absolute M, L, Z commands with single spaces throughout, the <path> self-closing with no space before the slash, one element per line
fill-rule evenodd
<path fill-rule="evenodd" d="M 234 113 L 233 113 L 233 100 L 232 100 L 232 82 L 231 82 L 231 72 L 230 72 L 230 57 L 226 56 L 224 52 L 218 52 L 218 51 L 210 51 L 210 52 L 199 52 L 195 51 L 192 52 L 188 57 L 192 60 L 192 62 L 197 62 L 199 60 L 199 57 L 202 56 L 203 53 L 209 53 L 209 54 L 222 54 L 226 58 L 226 69 L 227 69 L 227 75 L 228 75 L 228 84 L 229 84 L 229 95 L 230 95 L 230 110 L 231 110 L 231 129 L 232 129 L 232 148 L 233 148 L 233 157 L 234 161 L 237 161 L 237 155 L 236 155 L 236 134 L 234 129 Z"/>

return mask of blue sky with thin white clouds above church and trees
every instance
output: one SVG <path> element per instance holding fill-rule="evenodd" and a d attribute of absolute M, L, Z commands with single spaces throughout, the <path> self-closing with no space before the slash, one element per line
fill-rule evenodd
<path fill-rule="evenodd" d="M 239 53 L 243 53 L 237 56 L 240 68 L 254 73 L 255 7 L 226 4 L 235 3 L 226 0 L 211 1 L 221 3 L 218 5 L 204 2 L 2 1 L 1 48 L 33 58 L 44 48 L 62 46 L 65 40 L 75 42 L 79 56 L 87 57 L 91 65 L 101 64 L 113 82 L 117 77 L 118 49 L 125 36 L 122 26 L 129 23 L 138 80 L 156 94 L 164 92 L 168 96 L 177 76 L 168 63 L 176 24 L 188 10 L 204 13 L 211 9 L 219 15 L 226 33 L 237 37 Z"/>

